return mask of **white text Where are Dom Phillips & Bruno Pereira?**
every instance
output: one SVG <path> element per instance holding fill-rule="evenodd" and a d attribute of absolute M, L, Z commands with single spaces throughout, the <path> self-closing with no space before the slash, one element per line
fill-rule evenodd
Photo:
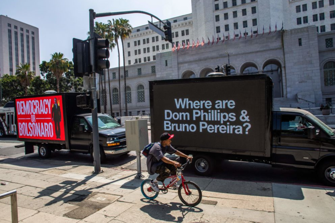
<path fill-rule="evenodd" d="M 176 108 L 164 111 L 164 131 L 248 134 L 251 128 L 247 110 L 222 112 L 222 110 L 234 109 L 236 107 L 234 100 L 216 100 L 214 103 L 210 100 L 190 101 L 188 98 L 175 98 L 174 100 Z M 192 110 L 191 112 L 178 111 L 182 109 Z M 193 124 L 174 123 L 177 120 L 178 122 L 198 122 Z M 209 124 L 209 121 L 218 124 Z M 235 122 L 240 123 L 238 125 Z"/>

